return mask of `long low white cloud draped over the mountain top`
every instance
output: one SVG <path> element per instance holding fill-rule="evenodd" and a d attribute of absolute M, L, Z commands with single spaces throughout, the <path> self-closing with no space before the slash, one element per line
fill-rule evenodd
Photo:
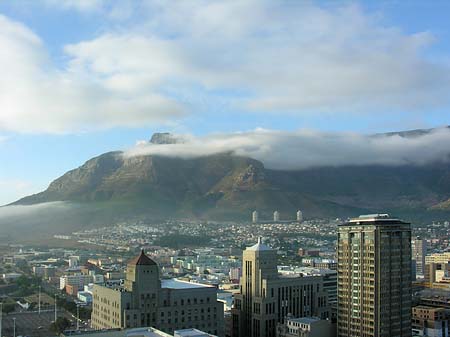
<path fill-rule="evenodd" d="M 260 160 L 267 168 L 282 170 L 345 165 L 422 165 L 450 159 L 448 128 L 408 137 L 264 129 L 205 137 L 178 137 L 183 140 L 182 143 L 138 142 L 124 155 L 195 158 L 232 152 Z"/>

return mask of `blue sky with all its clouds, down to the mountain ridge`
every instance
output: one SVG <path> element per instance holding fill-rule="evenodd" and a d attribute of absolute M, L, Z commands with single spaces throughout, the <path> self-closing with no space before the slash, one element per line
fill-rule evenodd
<path fill-rule="evenodd" d="M 449 11 L 444 0 L 0 0 L 0 204 L 103 152 L 154 153 L 142 145 L 154 132 L 187 139 L 166 155 L 225 149 L 280 169 L 443 156 L 442 132 L 366 136 L 449 124 Z"/>

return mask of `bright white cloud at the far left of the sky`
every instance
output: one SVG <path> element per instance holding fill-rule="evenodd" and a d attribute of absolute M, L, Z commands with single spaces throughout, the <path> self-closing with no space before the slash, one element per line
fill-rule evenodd
<path fill-rule="evenodd" d="M 167 123 L 173 100 L 150 89 L 114 87 L 94 74 L 57 69 L 24 25 L 0 16 L 0 129 L 62 133 Z"/>

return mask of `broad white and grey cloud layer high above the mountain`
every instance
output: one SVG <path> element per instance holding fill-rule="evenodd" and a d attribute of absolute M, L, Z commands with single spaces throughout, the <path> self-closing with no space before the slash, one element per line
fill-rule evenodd
<path fill-rule="evenodd" d="M 102 1 L 61 6 L 116 8 Z M 206 95 L 232 89 L 239 95 L 227 95 L 231 103 L 262 113 L 423 116 L 450 103 L 448 64 L 426 56 L 433 35 L 386 26 L 358 6 L 185 0 L 127 8 L 130 20 L 64 46 L 64 67 L 30 29 L 0 16 L 0 129 L 176 123 L 196 107 L 167 92 L 189 96 L 198 88 Z"/>

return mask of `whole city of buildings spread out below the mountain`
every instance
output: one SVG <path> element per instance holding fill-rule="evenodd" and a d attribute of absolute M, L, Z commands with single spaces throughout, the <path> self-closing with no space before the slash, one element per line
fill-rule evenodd
<path fill-rule="evenodd" d="M 204 231 L 202 226 L 195 231 Z M 95 240 L 112 245 L 126 237 L 133 248 L 147 247 L 147 254 L 23 252 L 3 261 L 27 261 L 36 276 L 92 308 L 90 334 L 107 330 L 104 337 L 138 330 L 149 336 L 450 336 L 450 252 L 424 236 L 412 237 L 409 223 L 374 214 L 344 223 L 211 228 L 214 236 L 228 229 L 226 235 L 253 245 L 243 252 L 228 244 L 158 247 L 136 233 L 154 237 L 167 231 L 123 225 Z M 302 228 L 314 241 L 283 246 Z M 13 283 L 21 274 L 11 270 L 5 280 Z"/>

